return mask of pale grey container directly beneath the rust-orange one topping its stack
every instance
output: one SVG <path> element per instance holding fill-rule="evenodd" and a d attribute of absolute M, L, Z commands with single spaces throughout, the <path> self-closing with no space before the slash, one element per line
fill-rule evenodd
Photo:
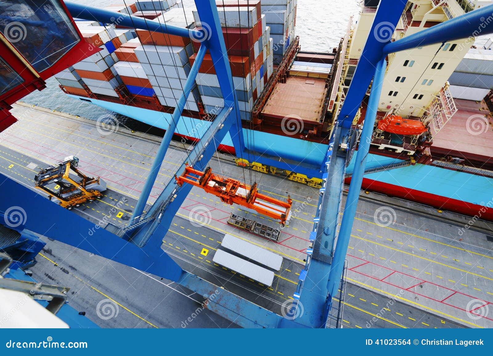
<path fill-rule="evenodd" d="M 176 65 L 179 67 L 189 63 L 187 52 L 184 47 L 144 45 L 137 47 L 135 49 L 135 54 L 141 63 Z"/>

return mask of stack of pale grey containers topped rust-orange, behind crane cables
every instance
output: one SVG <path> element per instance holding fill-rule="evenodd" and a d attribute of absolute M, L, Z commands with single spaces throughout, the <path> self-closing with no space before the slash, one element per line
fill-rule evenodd
<path fill-rule="evenodd" d="M 194 27 L 192 10 L 188 8 L 172 8 L 154 21 L 159 21 L 163 28 L 166 25 Z M 141 46 L 135 48 L 134 53 L 150 83 L 149 89 L 162 105 L 176 107 L 190 73 L 188 57 L 193 54 L 190 38 L 144 30 L 137 30 L 137 35 Z M 195 86 L 187 98 L 185 110 L 199 111 L 199 99 Z"/>

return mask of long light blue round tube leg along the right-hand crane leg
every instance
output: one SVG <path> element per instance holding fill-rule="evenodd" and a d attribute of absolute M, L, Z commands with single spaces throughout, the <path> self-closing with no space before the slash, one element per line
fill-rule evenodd
<path fill-rule="evenodd" d="M 332 259 L 332 268 L 330 269 L 329 279 L 327 281 L 329 301 L 330 298 L 337 292 L 339 282 L 341 281 L 344 261 L 346 259 L 349 239 L 351 237 L 352 224 L 356 214 L 356 207 L 358 205 L 359 192 L 361 190 L 361 183 L 363 182 L 366 159 L 370 150 L 373 127 L 375 126 L 375 120 L 377 118 L 378 103 L 380 100 L 380 94 L 382 93 L 382 85 L 384 83 L 386 67 L 387 62 L 384 58 L 377 64 L 375 77 L 373 78 L 373 85 L 370 98 L 368 100 L 365 122 L 363 124 L 361 138 L 359 140 L 356 161 L 354 162 L 351 185 L 349 186 L 348 197 L 346 198 L 346 205 L 344 207 L 344 214 L 341 221 L 341 228 L 339 230 L 337 245 Z"/>

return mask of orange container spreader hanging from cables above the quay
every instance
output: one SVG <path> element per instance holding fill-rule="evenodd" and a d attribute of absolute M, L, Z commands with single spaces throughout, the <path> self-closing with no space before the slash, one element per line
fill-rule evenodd
<path fill-rule="evenodd" d="M 289 195 L 287 201 L 282 201 L 258 193 L 256 182 L 248 186 L 235 179 L 212 173 L 211 167 L 207 167 L 205 172 L 202 172 L 186 164 L 183 173 L 180 176 L 175 175 L 175 180 L 180 187 L 183 183 L 192 184 L 204 189 L 207 193 L 218 196 L 226 204 L 239 204 L 269 218 L 279 220 L 282 226 L 291 217 L 290 210 L 293 201 Z"/>

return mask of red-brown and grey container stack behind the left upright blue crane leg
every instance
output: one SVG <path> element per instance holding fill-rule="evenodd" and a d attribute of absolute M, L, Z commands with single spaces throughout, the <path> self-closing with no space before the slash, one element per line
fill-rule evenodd
<path fill-rule="evenodd" d="M 264 64 L 268 62 L 266 47 L 269 29 L 266 28 L 265 16 L 261 14 L 258 0 L 224 0 L 224 3 L 219 0 L 216 5 L 240 115 L 242 120 L 250 120 L 253 103 L 268 80 L 267 70 L 264 69 L 267 65 Z M 195 22 L 199 23 L 198 12 L 194 11 L 193 14 Z M 195 43 L 195 50 L 199 46 L 200 43 Z M 189 59 L 193 64 L 195 54 Z M 196 82 L 205 109 L 211 114 L 217 114 L 224 107 L 224 99 L 209 54 L 206 54 L 202 62 Z"/>

